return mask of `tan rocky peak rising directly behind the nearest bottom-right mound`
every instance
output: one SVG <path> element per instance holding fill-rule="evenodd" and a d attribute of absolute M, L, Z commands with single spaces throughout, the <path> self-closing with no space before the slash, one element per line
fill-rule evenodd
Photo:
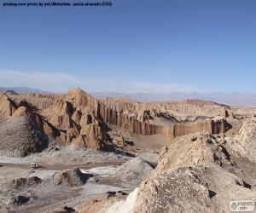
<path fill-rule="evenodd" d="M 170 147 L 161 149 L 159 164 L 155 172 L 176 170 L 180 166 L 232 165 L 234 162 L 230 159 L 222 142 L 221 138 L 207 132 L 177 138 Z"/>

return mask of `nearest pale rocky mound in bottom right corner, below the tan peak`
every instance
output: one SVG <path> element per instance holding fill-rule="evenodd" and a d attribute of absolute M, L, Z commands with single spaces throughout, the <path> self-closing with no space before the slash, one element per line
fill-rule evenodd
<path fill-rule="evenodd" d="M 134 212 L 230 212 L 231 200 L 255 199 L 241 178 L 212 165 L 165 170 L 140 187 Z"/>

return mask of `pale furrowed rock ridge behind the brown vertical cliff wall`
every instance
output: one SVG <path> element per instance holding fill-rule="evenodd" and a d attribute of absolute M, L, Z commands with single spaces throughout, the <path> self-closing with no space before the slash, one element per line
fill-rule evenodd
<path fill-rule="evenodd" d="M 225 117 L 231 116 L 231 109 L 228 106 L 218 104 L 213 101 L 203 100 L 184 100 L 184 101 L 165 101 L 155 103 L 141 103 L 129 99 L 106 98 L 103 103 L 117 112 L 125 114 L 133 114 L 135 117 L 145 110 L 149 110 L 151 115 L 160 116 L 166 113 L 169 116 L 206 116 L 213 118 L 218 115 Z"/>

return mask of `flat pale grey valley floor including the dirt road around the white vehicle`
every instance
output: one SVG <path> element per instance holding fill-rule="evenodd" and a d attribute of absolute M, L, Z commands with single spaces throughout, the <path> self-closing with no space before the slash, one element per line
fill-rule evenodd
<path fill-rule="evenodd" d="M 131 157 L 122 154 L 104 153 L 79 147 L 61 147 L 58 151 L 48 150 L 25 158 L 0 157 L 0 207 L 1 204 L 5 206 L 6 202 L 21 195 L 27 196 L 29 201 L 20 206 L 11 205 L 10 210 L 28 213 L 50 212 L 63 210 L 64 206 L 76 209 L 85 200 L 109 191 L 130 193 L 133 187 L 97 182 L 98 179 L 112 176 L 118 168 L 116 164 L 123 164 L 129 159 Z M 42 168 L 32 170 L 30 168 L 32 162 L 37 162 Z M 52 176 L 55 172 L 73 167 L 79 167 L 83 173 L 92 174 L 93 177 L 79 187 L 59 186 L 53 183 Z M 19 189 L 8 185 L 11 180 L 32 176 L 41 178 L 42 183 Z M 0 208 L 0 212 L 2 211 L 3 208 Z"/>

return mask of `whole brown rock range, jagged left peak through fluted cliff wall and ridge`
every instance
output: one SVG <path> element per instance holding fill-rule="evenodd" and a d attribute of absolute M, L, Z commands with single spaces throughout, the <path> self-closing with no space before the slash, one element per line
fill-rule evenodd
<path fill-rule="evenodd" d="M 113 150 L 115 146 L 108 135 L 108 124 L 138 135 L 176 137 L 204 130 L 220 134 L 227 130 L 224 118 L 180 123 L 173 114 L 210 116 L 221 114 L 224 110 L 231 113 L 229 107 L 211 101 L 139 103 L 97 100 L 81 89 L 69 89 L 67 95 L 0 93 L 0 105 L 0 122 L 24 117 L 34 124 L 41 135 L 47 135 L 63 145 L 74 144 L 105 151 Z M 166 124 L 154 124 L 157 118 L 164 119 Z"/>

